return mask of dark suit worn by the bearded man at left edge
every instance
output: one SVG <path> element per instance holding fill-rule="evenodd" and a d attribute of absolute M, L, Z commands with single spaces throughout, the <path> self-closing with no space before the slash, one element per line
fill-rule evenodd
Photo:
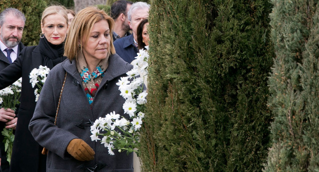
<path fill-rule="evenodd" d="M 23 48 L 24 48 L 24 45 L 21 42 L 19 42 L 18 52 L 16 53 L 17 57 L 19 56 L 19 53 L 22 51 Z M 10 63 L 9 63 L 8 59 L 3 54 L 3 52 L 0 51 L 0 71 L 9 65 L 10 65 Z M 0 130 L 2 131 L 4 127 L 5 127 L 5 122 L 0 121 Z M 2 134 L 0 134 L 1 169 L 3 172 L 7 172 L 9 170 L 9 163 L 6 161 L 6 153 L 4 151 L 4 143 L 2 142 L 3 138 L 4 137 L 2 136 Z"/>

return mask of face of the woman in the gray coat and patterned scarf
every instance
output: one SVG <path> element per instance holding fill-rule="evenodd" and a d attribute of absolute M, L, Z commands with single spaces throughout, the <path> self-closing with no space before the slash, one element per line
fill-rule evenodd
<path fill-rule="evenodd" d="M 87 39 L 87 43 L 85 43 Z M 105 59 L 110 52 L 110 28 L 106 20 L 101 20 L 93 25 L 88 36 L 82 37 L 83 55 L 86 63 L 96 64 Z"/>

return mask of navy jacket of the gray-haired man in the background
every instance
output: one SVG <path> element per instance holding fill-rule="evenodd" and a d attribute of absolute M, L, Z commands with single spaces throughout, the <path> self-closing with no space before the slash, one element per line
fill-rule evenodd
<path fill-rule="evenodd" d="M 131 63 L 137 56 L 138 48 L 134 45 L 133 34 L 114 41 L 116 54 L 124 61 Z"/>

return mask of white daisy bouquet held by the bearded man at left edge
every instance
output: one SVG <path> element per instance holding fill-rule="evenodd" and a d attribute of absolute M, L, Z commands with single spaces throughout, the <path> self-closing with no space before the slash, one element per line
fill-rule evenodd
<path fill-rule="evenodd" d="M 0 90 L 0 108 L 10 108 L 15 111 L 16 105 L 20 103 L 20 92 L 21 92 L 21 82 L 22 79 L 20 78 L 11 86 L 8 86 L 4 89 Z M 13 129 L 4 128 L 1 134 L 4 136 L 3 143 L 4 143 L 4 150 L 6 152 L 7 161 L 10 163 L 11 161 L 11 154 L 12 154 L 12 146 L 14 141 L 14 134 Z"/>

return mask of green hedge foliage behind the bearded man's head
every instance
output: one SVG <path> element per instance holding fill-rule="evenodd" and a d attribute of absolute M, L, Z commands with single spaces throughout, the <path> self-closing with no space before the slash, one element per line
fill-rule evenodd
<path fill-rule="evenodd" d="M 17 8 L 25 15 L 26 21 L 21 42 L 25 46 L 37 45 L 41 33 L 41 15 L 46 7 L 46 1 L 0 0 L 0 11 L 8 7 Z"/>

